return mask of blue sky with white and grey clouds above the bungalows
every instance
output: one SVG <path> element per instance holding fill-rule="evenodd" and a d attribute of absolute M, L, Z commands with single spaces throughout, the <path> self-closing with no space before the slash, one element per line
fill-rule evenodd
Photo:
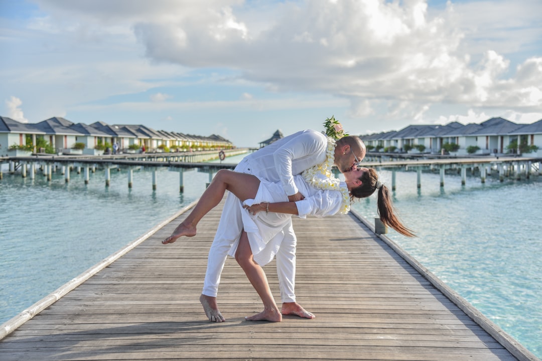
<path fill-rule="evenodd" d="M 0 0 L 0 115 L 257 146 L 542 119 L 540 0 Z"/>

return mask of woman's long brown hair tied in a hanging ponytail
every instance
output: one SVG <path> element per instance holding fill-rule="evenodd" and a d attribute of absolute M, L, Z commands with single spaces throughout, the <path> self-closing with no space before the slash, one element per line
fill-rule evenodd
<path fill-rule="evenodd" d="M 353 188 L 350 190 L 351 200 L 353 200 L 353 198 L 369 197 L 372 195 L 372 193 L 378 190 L 378 216 L 380 216 L 382 223 L 395 229 L 404 236 L 414 237 L 414 233 L 406 228 L 395 215 L 390 190 L 388 187 L 378 181 L 378 174 L 376 170 L 369 168 L 368 171 L 363 173 L 359 180 L 362 181 L 362 185 L 360 185 L 358 188 Z"/>

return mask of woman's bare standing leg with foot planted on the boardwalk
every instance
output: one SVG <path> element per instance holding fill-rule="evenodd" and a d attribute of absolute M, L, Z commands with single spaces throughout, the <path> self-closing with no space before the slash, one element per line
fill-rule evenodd
<path fill-rule="evenodd" d="M 269 284 L 267 283 L 266 273 L 263 272 L 263 269 L 259 264 L 254 262 L 252 250 L 250 249 L 250 244 L 248 242 L 247 232 L 245 231 L 241 233 L 239 245 L 237 246 L 237 251 L 235 252 L 235 259 L 243 269 L 244 273 L 246 273 L 247 278 L 250 280 L 250 283 L 253 285 L 263 302 L 262 312 L 245 318 L 249 321 L 266 320 L 270 322 L 281 322 L 282 315 L 279 307 L 275 303 L 275 299 L 273 298 Z"/>

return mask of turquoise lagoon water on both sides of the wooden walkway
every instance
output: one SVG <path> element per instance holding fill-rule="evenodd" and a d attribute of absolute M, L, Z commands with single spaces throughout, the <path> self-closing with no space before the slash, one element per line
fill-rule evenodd
<path fill-rule="evenodd" d="M 237 163 L 242 156 L 227 159 Z M 380 172 L 384 184 L 391 173 Z M 388 236 L 489 319 L 542 357 L 540 219 L 542 177 L 485 185 L 468 177 L 397 174 L 394 200 L 404 223 L 418 238 Z M 41 175 L 22 179 L 4 172 L 0 181 L 0 323 L 16 316 L 59 286 L 143 235 L 201 195 L 207 173 L 185 172 L 184 194 L 177 172 L 135 171 L 91 175 L 88 185 L 74 172 L 47 182 Z M 376 198 L 353 206 L 376 216 Z M 62 267 L 58 265 L 62 264 Z"/>

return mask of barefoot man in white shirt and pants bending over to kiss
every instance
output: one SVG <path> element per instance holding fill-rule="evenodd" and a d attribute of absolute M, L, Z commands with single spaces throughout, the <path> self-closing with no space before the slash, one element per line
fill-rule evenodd
<path fill-rule="evenodd" d="M 303 196 L 293 182 L 293 176 L 322 164 L 327 159 L 328 139 L 321 132 L 304 130 L 257 150 L 244 157 L 236 166 L 236 172 L 253 174 L 270 182 L 281 182 L 290 202 Z M 333 163 L 341 172 L 350 171 L 365 157 L 365 145 L 359 137 L 346 136 L 336 142 Z M 243 205 L 233 194 L 226 197 L 215 239 L 209 250 L 207 272 L 203 285 L 202 303 L 205 314 L 212 322 L 223 322 L 216 302 L 220 275 L 231 246 L 243 232 L 241 212 Z M 189 236 L 190 225 L 181 223 L 163 243 L 172 243 L 180 236 Z M 193 236 L 193 235 L 192 235 Z M 290 223 L 283 246 L 276 254 L 277 274 L 282 300 L 282 315 L 314 318 L 295 300 L 295 233 Z M 248 276 L 248 275 L 247 275 Z M 250 279 L 250 277 L 249 277 Z"/>

